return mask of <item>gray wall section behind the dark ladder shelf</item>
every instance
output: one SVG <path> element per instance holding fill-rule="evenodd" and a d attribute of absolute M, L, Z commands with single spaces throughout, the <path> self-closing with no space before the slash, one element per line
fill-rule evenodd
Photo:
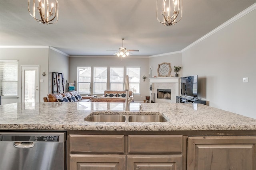
<path fill-rule="evenodd" d="M 49 83 L 47 94 L 52 93 L 52 72 L 61 72 L 65 80 L 64 90 L 66 92 L 67 84 L 69 82 L 69 57 L 60 53 L 59 51 L 49 49 Z M 45 96 L 47 95 L 45 94 Z"/>

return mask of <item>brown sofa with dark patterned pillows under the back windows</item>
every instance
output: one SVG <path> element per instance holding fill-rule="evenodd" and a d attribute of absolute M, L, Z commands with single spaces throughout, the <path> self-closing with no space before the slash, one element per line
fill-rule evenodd
<path fill-rule="evenodd" d="M 132 91 L 128 91 L 129 97 L 132 97 Z M 105 90 L 100 98 L 90 98 L 89 102 L 125 102 L 125 90 Z M 134 102 L 134 101 L 132 101 Z"/>

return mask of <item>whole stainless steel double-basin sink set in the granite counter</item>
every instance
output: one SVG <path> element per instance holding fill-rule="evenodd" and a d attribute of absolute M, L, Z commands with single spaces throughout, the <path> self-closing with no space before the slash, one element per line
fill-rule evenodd
<path fill-rule="evenodd" d="M 126 112 L 124 112 L 126 113 Z M 94 112 L 84 118 L 94 122 L 165 122 L 168 121 L 158 112 Z M 143 113 L 143 114 L 142 114 Z"/>

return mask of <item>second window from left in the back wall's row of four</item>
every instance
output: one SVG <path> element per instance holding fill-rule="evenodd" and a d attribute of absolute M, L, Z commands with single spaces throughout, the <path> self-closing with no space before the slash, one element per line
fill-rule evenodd
<path fill-rule="evenodd" d="M 93 93 L 104 93 L 107 89 L 108 68 L 94 67 Z"/>

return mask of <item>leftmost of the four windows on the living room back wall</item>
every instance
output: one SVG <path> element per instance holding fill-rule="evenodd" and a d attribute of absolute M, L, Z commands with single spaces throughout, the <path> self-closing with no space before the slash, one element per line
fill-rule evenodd
<path fill-rule="evenodd" d="M 90 67 L 78 67 L 78 93 L 90 93 L 91 85 L 91 68 Z"/>

